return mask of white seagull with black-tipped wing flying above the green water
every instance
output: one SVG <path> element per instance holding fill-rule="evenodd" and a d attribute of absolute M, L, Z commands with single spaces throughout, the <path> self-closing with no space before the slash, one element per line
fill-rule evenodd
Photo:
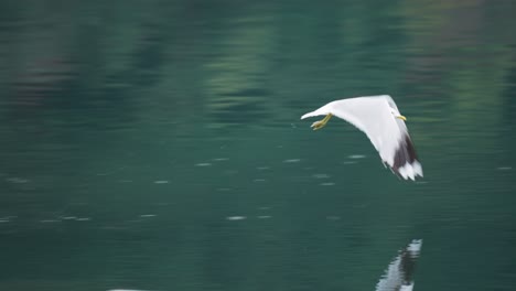
<path fill-rule="evenodd" d="M 325 116 L 312 123 L 313 130 L 323 128 L 336 116 L 364 131 L 378 151 L 385 166 L 405 180 L 423 176 L 421 163 L 408 133 L 402 116 L 389 95 L 364 96 L 335 100 L 301 117 Z"/>

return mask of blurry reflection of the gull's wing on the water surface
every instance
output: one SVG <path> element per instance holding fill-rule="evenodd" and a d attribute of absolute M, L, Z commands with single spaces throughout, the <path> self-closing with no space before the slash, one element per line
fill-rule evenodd
<path fill-rule="evenodd" d="M 413 271 L 421 245 L 422 239 L 413 239 L 399 252 L 376 284 L 376 291 L 411 291 L 413 289 Z"/>

